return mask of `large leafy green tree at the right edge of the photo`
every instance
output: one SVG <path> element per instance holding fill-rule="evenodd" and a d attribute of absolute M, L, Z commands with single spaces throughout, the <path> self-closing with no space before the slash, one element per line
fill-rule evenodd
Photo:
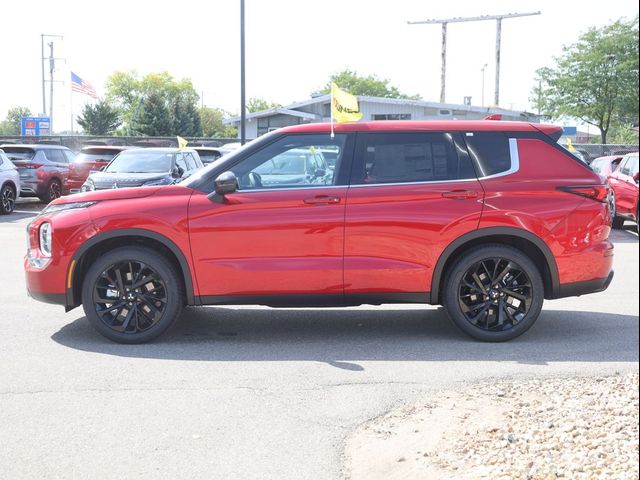
<path fill-rule="evenodd" d="M 638 124 L 637 16 L 590 28 L 554 61 L 537 71 L 536 108 L 596 126 L 602 143 L 613 125 Z"/>

